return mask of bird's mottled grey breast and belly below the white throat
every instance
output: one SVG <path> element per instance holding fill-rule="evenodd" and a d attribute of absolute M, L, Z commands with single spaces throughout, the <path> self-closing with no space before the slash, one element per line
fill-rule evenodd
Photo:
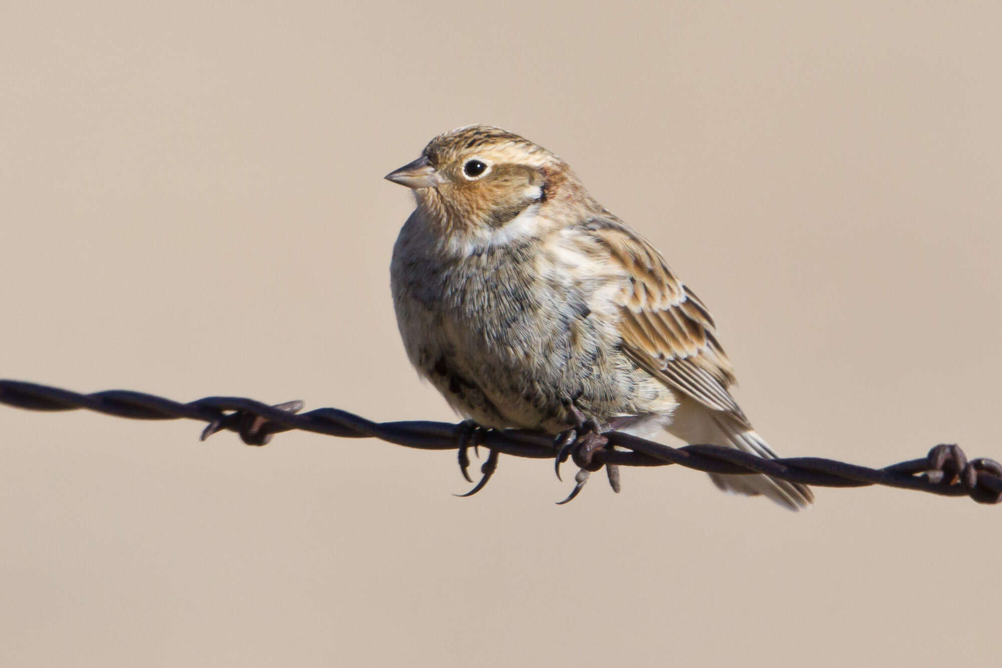
<path fill-rule="evenodd" d="M 406 228 L 405 228 L 406 232 Z M 623 353 L 618 311 L 535 245 L 443 259 L 402 233 L 391 267 L 412 363 L 461 414 L 485 426 L 559 431 L 585 415 L 663 413 L 665 385 Z"/>

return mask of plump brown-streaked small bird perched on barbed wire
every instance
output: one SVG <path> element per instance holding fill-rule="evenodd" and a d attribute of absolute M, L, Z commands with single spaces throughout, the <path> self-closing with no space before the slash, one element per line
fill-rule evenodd
<path fill-rule="evenodd" d="M 390 265 L 404 348 L 471 424 L 559 435 L 587 422 L 778 456 L 729 392 L 709 310 L 555 153 L 466 125 L 386 179 L 416 201 Z M 764 474 L 710 477 L 794 511 L 814 499 Z"/>

